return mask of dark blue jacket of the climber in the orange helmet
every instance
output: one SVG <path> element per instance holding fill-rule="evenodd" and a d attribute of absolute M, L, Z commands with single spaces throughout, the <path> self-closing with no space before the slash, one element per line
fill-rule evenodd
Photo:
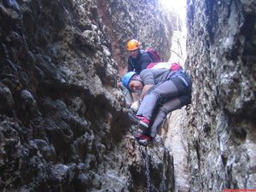
<path fill-rule="evenodd" d="M 150 58 L 148 52 L 140 50 L 140 53 L 137 55 L 136 59 L 133 59 L 131 55 L 128 58 L 128 72 L 135 71 L 136 73 L 141 73 L 143 69 L 147 68 L 148 64 L 153 62 Z"/>

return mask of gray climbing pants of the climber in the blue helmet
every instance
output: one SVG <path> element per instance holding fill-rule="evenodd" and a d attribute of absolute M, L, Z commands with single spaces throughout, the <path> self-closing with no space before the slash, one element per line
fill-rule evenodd
<path fill-rule="evenodd" d="M 155 137 L 158 127 L 166 119 L 167 113 L 182 108 L 191 102 L 191 79 L 184 76 L 188 84 L 183 84 L 180 79 L 173 77 L 169 80 L 154 85 L 143 98 L 138 116 L 143 116 L 150 121 L 147 133 Z"/>

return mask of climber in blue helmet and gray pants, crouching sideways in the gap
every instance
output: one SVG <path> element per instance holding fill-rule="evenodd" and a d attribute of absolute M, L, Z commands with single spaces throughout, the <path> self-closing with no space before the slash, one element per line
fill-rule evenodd
<path fill-rule="evenodd" d="M 191 102 L 192 83 L 189 74 L 175 63 L 170 69 L 148 68 L 140 75 L 128 72 L 122 79 L 130 91 L 142 90 L 137 119 L 143 127 L 141 135 L 134 136 L 138 143 L 147 145 L 156 137 L 157 129 L 170 113 Z"/>

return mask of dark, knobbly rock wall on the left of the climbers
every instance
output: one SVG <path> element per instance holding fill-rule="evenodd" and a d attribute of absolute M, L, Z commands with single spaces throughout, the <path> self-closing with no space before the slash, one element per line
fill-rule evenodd
<path fill-rule="evenodd" d="M 1 192 L 145 191 L 146 154 L 151 189 L 172 191 L 163 143 L 146 151 L 131 138 L 98 11 L 95 1 L 0 1 Z"/>

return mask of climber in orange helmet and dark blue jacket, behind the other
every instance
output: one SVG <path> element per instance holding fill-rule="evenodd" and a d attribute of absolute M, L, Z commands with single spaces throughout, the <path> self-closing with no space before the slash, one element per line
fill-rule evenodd
<path fill-rule="evenodd" d="M 137 39 L 131 39 L 127 43 L 128 57 L 128 72 L 141 73 L 149 63 L 154 62 L 153 58 L 147 51 L 141 49 L 141 44 Z"/>

